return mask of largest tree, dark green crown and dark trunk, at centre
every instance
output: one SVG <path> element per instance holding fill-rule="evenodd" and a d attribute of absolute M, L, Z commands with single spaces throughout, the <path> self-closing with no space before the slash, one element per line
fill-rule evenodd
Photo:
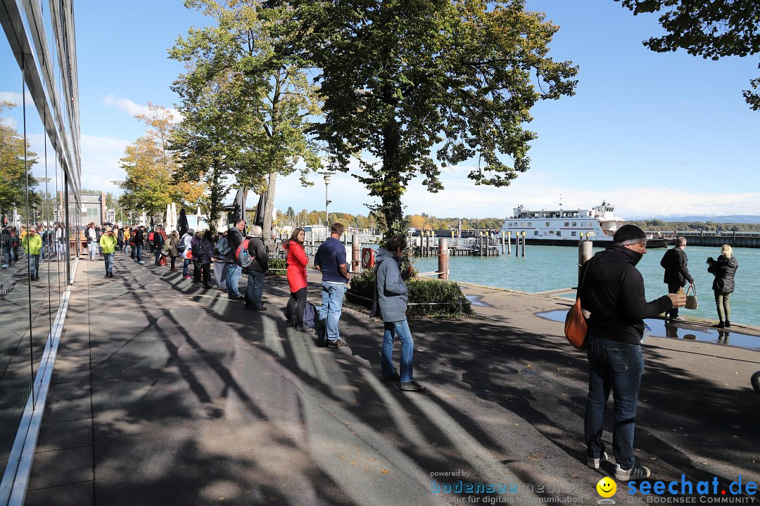
<path fill-rule="evenodd" d="M 360 159 L 355 175 L 380 198 L 371 209 L 385 234 L 405 230 L 401 198 L 417 174 L 436 192 L 442 167 L 476 156 L 475 184 L 507 186 L 526 171 L 530 108 L 572 95 L 577 74 L 546 56 L 558 28 L 523 0 L 409 4 L 296 0 L 301 54 L 321 69 L 315 131 L 338 170 L 363 152 L 378 160 Z"/>

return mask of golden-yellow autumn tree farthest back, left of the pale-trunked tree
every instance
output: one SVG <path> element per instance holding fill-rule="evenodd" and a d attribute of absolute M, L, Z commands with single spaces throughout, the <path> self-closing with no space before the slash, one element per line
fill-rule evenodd
<path fill-rule="evenodd" d="M 149 115 L 137 115 L 148 126 L 143 137 L 125 148 L 119 161 L 127 174 L 119 184 L 124 194 L 119 200 L 123 206 L 145 209 L 149 215 L 161 215 L 170 203 L 180 206 L 197 206 L 204 194 L 204 185 L 188 181 L 175 181 L 180 170 L 176 153 L 169 147 L 173 137 L 173 115 L 169 109 L 148 104 Z"/>

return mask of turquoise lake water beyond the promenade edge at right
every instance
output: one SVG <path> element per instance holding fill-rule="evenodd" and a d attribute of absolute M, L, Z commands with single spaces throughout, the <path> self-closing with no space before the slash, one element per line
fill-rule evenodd
<path fill-rule="evenodd" d="M 594 248 L 594 253 L 602 248 Z M 515 246 L 512 245 L 514 253 Z M 660 259 L 665 248 L 648 250 L 638 269 L 644 276 L 647 300 L 667 293 L 663 283 L 664 270 Z M 698 310 L 680 310 L 684 316 L 698 316 L 717 320 L 717 310 L 712 291 L 713 275 L 708 272 L 705 260 L 708 256 L 720 256 L 720 248 L 686 247 L 689 272 L 694 278 L 699 300 Z M 731 322 L 760 326 L 760 249 L 735 248 L 733 255 L 739 261 L 736 271 L 736 291 L 731 294 Z M 572 288 L 577 284 L 578 248 L 562 246 L 533 246 L 528 244 L 525 256 L 451 256 L 449 278 L 451 281 L 484 284 L 512 290 L 540 292 Z M 438 270 L 436 257 L 414 259 L 414 267 L 420 272 Z M 568 294 L 567 297 L 575 297 Z"/>

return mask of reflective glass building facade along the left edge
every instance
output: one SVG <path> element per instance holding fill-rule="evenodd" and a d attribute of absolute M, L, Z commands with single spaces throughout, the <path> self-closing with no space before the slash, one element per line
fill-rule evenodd
<path fill-rule="evenodd" d="M 0 505 L 24 497 L 81 228 L 71 0 L 0 0 Z M 31 448 L 30 448 L 31 445 Z M 30 463 L 29 463 L 30 464 Z M 20 490 L 22 488 L 22 490 Z"/>

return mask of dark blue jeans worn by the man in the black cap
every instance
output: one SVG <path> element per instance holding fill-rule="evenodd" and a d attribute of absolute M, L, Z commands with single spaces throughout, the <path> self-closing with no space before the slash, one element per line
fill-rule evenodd
<path fill-rule="evenodd" d="M 613 454 L 620 467 L 630 469 L 635 463 L 633 432 L 636 427 L 636 401 L 641 387 L 641 373 L 644 372 L 641 346 L 597 338 L 588 338 L 587 343 L 587 457 L 599 458 L 604 451 L 602 425 L 611 388 L 615 400 Z"/>

